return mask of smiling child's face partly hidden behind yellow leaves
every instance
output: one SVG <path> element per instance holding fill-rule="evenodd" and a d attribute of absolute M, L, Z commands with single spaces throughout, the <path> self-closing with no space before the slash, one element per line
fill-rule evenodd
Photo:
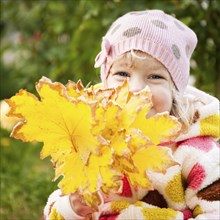
<path fill-rule="evenodd" d="M 152 93 L 153 108 L 148 116 L 171 111 L 173 82 L 167 69 L 156 59 L 145 54 L 145 59 L 125 55 L 113 62 L 106 80 L 109 88 L 116 88 L 128 79 L 132 92 L 148 86 Z"/>

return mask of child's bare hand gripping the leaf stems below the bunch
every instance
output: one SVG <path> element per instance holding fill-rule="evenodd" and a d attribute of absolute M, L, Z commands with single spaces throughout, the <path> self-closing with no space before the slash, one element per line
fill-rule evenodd
<path fill-rule="evenodd" d="M 85 199 L 78 193 L 70 194 L 69 199 L 71 207 L 77 215 L 86 217 L 94 212 L 94 210 L 87 205 Z"/>

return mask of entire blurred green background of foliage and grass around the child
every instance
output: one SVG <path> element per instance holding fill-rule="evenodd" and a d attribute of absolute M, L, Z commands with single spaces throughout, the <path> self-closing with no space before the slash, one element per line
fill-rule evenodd
<path fill-rule="evenodd" d="M 128 11 L 162 9 L 197 34 L 191 62 L 196 87 L 220 97 L 219 0 L 0 0 L 0 99 L 20 88 L 35 92 L 41 76 L 52 81 L 99 82 L 93 68 L 101 38 Z M 1 113 L 2 114 L 2 113 Z M 10 129 L 9 129 L 10 130 Z M 56 188 L 42 144 L 9 138 L 1 128 L 1 219 L 42 219 Z"/>

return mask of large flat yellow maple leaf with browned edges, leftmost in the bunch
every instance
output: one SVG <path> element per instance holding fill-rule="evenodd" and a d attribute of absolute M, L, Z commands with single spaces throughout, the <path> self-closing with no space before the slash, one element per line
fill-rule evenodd
<path fill-rule="evenodd" d="M 79 151 L 86 163 L 90 152 L 99 145 L 91 134 L 95 123 L 91 108 L 84 102 L 70 101 L 60 83 L 52 84 L 42 79 L 37 89 L 40 101 L 25 90 L 7 100 L 12 107 L 9 115 L 25 119 L 15 127 L 12 136 L 23 141 L 44 142 L 42 158 L 73 149 Z"/>

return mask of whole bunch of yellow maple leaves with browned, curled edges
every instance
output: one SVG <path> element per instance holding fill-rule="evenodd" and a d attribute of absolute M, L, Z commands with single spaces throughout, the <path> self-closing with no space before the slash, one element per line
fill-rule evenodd
<path fill-rule="evenodd" d="M 36 85 L 40 96 L 21 89 L 7 100 L 9 116 L 22 119 L 12 136 L 25 142 L 43 142 L 41 158 L 51 156 L 55 178 L 64 194 L 78 191 L 92 203 L 97 192 L 117 192 L 124 175 L 131 185 L 151 188 L 146 170 L 165 171 L 173 165 L 167 148 L 180 130 L 168 113 L 147 118 L 152 108 L 145 89 L 129 92 L 125 82 L 116 89 L 46 77 Z"/>

